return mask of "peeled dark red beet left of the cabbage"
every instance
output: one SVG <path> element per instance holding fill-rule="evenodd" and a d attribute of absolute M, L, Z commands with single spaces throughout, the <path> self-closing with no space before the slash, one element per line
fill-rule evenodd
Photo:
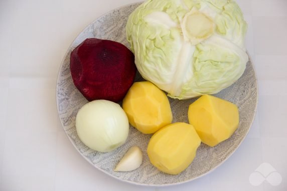
<path fill-rule="evenodd" d="M 70 57 L 75 86 L 88 101 L 121 101 L 133 83 L 134 55 L 124 45 L 101 39 L 86 39 Z"/>

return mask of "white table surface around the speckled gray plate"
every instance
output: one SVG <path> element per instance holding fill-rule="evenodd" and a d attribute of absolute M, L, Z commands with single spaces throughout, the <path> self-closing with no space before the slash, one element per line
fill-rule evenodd
<path fill-rule="evenodd" d="M 74 38 L 102 14 L 136 0 L 0 0 L 0 190 L 287 190 L 287 0 L 237 0 L 256 68 L 255 121 L 237 151 L 194 181 L 128 184 L 91 166 L 65 135 L 56 79 Z M 282 178 L 254 186 L 263 162 Z"/>

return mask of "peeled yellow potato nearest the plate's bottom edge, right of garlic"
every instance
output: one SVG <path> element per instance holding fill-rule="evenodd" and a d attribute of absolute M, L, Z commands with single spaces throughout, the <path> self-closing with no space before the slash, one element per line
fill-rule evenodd
<path fill-rule="evenodd" d="M 173 123 L 152 136 L 147 152 L 151 163 L 159 170 L 178 174 L 191 164 L 200 143 L 192 125 Z"/>

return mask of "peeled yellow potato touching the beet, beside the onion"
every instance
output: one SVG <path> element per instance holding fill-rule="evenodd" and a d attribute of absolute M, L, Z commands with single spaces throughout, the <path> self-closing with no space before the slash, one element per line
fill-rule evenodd
<path fill-rule="evenodd" d="M 135 82 L 122 102 L 129 123 L 140 132 L 154 133 L 172 122 L 167 95 L 151 82 Z"/>

